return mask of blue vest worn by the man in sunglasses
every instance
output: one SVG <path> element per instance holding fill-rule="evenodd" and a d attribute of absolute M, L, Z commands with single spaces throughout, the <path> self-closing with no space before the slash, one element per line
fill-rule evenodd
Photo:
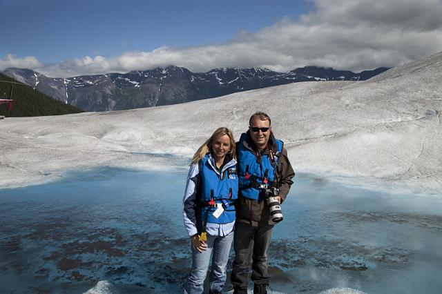
<path fill-rule="evenodd" d="M 256 157 L 253 150 L 244 146 L 247 139 L 247 133 L 243 133 L 238 144 L 238 166 L 239 166 L 239 184 L 240 193 L 243 197 L 253 200 L 262 200 L 265 198 L 265 188 L 276 186 L 275 168 L 282 152 L 284 143 L 275 139 L 276 153 L 272 160 L 269 154 Z M 273 152 L 273 150 L 272 150 Z"/>

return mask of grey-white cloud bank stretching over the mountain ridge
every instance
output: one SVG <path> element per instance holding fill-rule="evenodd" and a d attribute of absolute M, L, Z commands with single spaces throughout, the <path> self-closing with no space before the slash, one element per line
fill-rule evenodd
<path fill-rule="evenodd" d="M 285 72 L 302 66 L 361 71 L 394 67 L 442 51 L 440 0 L 313 0 L 299 19 L 285 18 L 258 32 L 238 32 L 226 43 L 187 48 L 163 46 L 119 56 L 85 56 L 57 64 L 8 55 L 0 69 L 31 68 L 49 77 L 128 72 L 182 66 L 265 67 Z M 227 18 L 228 21 L 228 18 Z"/>

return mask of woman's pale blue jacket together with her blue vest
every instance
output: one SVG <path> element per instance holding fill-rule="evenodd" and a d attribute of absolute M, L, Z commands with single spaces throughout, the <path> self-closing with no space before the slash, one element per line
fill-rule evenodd
<path fill-rule="evenodd" d="M 233 201 L 236 199 L 238 199 L 236 159 L 226 158 L 222 170 L 216 168 L 215 159 L 209 153 L 198 164 L 192 164 L 183 199 L 184 226 L 189 236 L 201 233 L 204 230 L 203 223 L 208 226 L 231 224 L 227 227 L 229 230 L 233 229 L 236 217 Z M 224 209 L 219 217 L 213 216 L 217 209 L 215 206 L 222 206 Z M 224 233 L 227 235 L 228 232 Z"/>

